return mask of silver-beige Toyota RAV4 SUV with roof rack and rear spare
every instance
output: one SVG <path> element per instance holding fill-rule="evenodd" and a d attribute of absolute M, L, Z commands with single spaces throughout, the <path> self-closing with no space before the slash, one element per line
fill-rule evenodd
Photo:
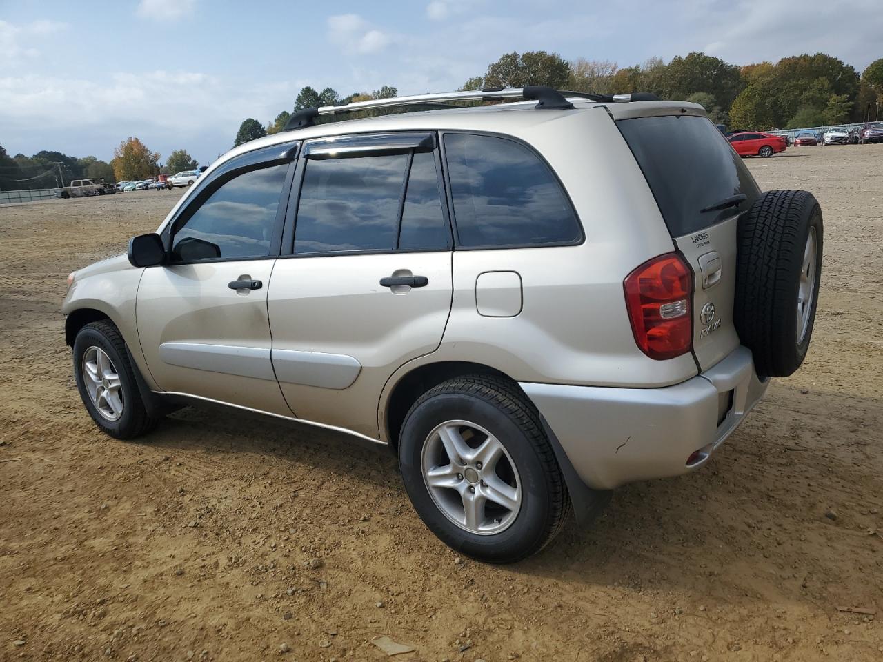
<path fill-rule="evenodd" d="M 463 100 L 498 103 L 438 108 Z M 804 359 L 819 205 L 761 193 L 696 104 L 525 87 L 287 128 L 69 277 L 106 433 L 194 401 L 341 430 L 397 453 L 445 543 L 509 562 L 696 470 Z"/>

